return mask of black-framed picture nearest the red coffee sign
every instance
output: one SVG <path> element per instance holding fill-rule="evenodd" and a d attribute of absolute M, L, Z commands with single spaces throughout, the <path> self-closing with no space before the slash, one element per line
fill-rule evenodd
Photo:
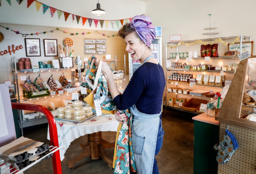
<path fill-rule="evenodd" d="M 40 39 L 25 38 L 26 56 L 41 56 Z"/>

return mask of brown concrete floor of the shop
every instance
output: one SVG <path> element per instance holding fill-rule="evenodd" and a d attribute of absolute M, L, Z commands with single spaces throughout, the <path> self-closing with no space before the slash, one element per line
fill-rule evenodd
<path fill-rule="evenodd" d="M 162 124 L 165 130 L 163 146 L 156 156 L 159 172 L 161 174 L 189 174 L 193 173 L 193 141 L 194 141 L 194 124 L 191 119 L 193 114 L 182 111 L 165 110 L 163 112 Z M 24 136 L 30 139 L 50 144 L 47 140 L 47 128 L 26 131 Z M 115 141 L 116 132 L 102 132 L 102 138 L 109 141 Z M 91 160 L 86 157 L 84 160 L 75 164 L 74 169 L 67 167 L 67 162 L 77 156 L 80 152 L 80 143 L 86 143 L 87 136 L 79 137 L 74 140 L 65 153 L 65 159 L 62 163 L 62 173 L 90 173 L 90 174 L 112 174 L 107 163 L 100 160 Z M 114 148 L 106 149 L 110 157 L 114 155 Z M 53 173 L 51 158 L 43 160 L 33 167 L 27 169 L 25 174 L 49 174 Z"/>

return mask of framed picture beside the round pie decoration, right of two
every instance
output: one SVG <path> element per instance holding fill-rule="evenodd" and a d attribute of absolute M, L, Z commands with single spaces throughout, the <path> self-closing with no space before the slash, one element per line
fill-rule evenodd
<path fill-rule="evenodd" d="M 43 39 L 45 56 L 58 56 L 57 39 Z"/>

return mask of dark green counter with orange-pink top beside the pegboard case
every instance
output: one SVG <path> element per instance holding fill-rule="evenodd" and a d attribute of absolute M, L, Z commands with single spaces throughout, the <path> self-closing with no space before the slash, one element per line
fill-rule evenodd
<path fill-rule="evenodd" d="M 219 121 L 206 113 L 197 115 L 194 120 L 194 174 L 218 173 L 213 146 L 219 142 Z"/>

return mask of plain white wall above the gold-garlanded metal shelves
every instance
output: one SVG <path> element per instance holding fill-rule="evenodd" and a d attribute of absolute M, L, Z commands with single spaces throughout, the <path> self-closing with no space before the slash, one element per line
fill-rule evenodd
<path fill-rule="evenodd" d="M 206 38 L 202 33 L 207 31 L 203 28 L 209 27 L 207 14 L 211 14 L 211 26 L 218 27 L 216 31 L 219 34 L 216 37 L 242 34 L 251 36 L 251 41 L 256 41 L 255 7 L 256 1 L 253 0 L 161 0 L 157 4 L 155 0 L 149 0 L 146 2 L 146 15 L 151 17 L 154 26 L 162 26 L 165 65 L 165 42 L 170 41 L 169 35 L 181 34 L 182 40 Z M 255 47 L 254 45 L 254 55 Z"/>

